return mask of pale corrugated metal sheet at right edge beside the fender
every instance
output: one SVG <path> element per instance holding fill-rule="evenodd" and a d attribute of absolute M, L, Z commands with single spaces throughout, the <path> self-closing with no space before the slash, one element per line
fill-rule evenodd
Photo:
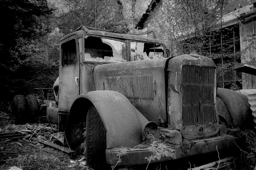
<path fill-rule="evenodd" d="M 247 96 L 250 108 L 252 110 L 254 128 L 256 129 L 256 89 L 243 89 L 236 92 L 241 92 Z"/>

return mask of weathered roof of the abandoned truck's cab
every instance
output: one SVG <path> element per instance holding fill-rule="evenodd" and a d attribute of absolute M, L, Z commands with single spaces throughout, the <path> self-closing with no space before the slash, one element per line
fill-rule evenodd
<path fill-rule="evenodd" d="M 72 35 L 76 35 L 78 38 L 80 38 L 82 36 L 82 34 L 84 34 L 84 33 L 86 33 L 88 35 L 101 35 L 101 36 L 112 37 L 112 38 L 117 38 L 117 39 L 147 41 L 147 42 L 155 42 L 155 43 L 159 43 L 159 44 L 164 44 L 163 41 L 158 40 L 156 38 L 150 38 L 150 37 L 142 36 L 139 34 L 135 35 L 135 34 L 126 34 L 126 33 L 115 33 L 112 31 L 102 30 L 102 29 L 98 29 L 98 28 L 92 28 L 92 27 L 88 27 L 88 26 L 80 26 L 74 32 L 69 33 L 69 34 L 65 35 L 64 37 L 62 37 L 60 39 L 60 41 L 66 39 Z"/>

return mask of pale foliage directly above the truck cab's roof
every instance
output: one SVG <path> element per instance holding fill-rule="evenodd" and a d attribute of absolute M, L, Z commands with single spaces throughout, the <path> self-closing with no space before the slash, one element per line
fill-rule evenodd
<path fill-rule="evenodd" d="M 60 15 L 57 24 L 64 34 L 70 33 L 80 25 L 125 31 L 122 5 L 116 0 L 66 0 L 66 6 L 68 12 Z"/>

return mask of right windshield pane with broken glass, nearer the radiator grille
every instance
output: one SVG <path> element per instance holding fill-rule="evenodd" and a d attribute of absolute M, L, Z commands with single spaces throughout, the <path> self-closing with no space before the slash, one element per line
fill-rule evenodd
<path fill-rule="evenodd" d="M 130 42 L 131 61 L 164 58 L 164 47 L 160 44 Z"/>

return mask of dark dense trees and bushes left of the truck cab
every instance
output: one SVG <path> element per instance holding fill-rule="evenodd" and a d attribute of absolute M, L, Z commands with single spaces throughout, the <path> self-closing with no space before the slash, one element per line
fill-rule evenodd
<path fill-rule="evenodd" d="M 44 60 L 44 46 L 57 48 L 61 34 L 52 36 L 55 26 L 49 17 L 53 9 L 46 0 L 4 0 L 0 35 L 1 99 L 33 93 L 35 87 L 50 87 L 58 75 L 58 63 Z M 56 32 L 56 31 L 55 31 Z M 50 66 L 50 67 L 49 67 Z M 45 69 L 47 67 L 47 69 Z M 45 72 L 47 70 L 47 72 Z M 54 72 L 49 76 L 50 72 Z"/>

